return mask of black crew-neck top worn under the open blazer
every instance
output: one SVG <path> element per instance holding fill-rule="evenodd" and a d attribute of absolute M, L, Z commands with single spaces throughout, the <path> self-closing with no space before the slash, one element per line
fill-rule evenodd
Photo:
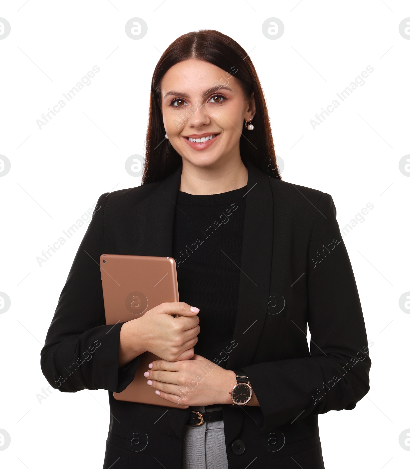
<path fill-rule="evenodd" d="M 179 301 L 196 306 L 196 354 L 224 367 L 239 295 L 247 187 L 221 194 L 178 192 L 172 255 Z"/>

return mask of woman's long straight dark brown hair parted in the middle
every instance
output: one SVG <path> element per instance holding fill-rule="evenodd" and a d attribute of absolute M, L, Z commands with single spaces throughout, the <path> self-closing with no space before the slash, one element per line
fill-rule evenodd
<path fill-rule="evenodd" d="M 242 160 L 248 159 L 265 174 L 281 179 L 276 163 L 264 92 L 249 55 L 229 36 L 216 30 L 200 30 L 177 38 L 168 46 L 155 67 L 151 82 L 145 164 L 141 184 L 161 181 L 182 164 L 181 156 L 169 141 L 164 139 L 161 80 L 169 68 L 188 59 L 210 62 L 225 70 L 227 76 L 235 76 L 247 99 L 254 91 L 256 114 L 252 124 L 255 128 L 249 132 L 243 122 L 239 141 L 241 158 Z"/>

